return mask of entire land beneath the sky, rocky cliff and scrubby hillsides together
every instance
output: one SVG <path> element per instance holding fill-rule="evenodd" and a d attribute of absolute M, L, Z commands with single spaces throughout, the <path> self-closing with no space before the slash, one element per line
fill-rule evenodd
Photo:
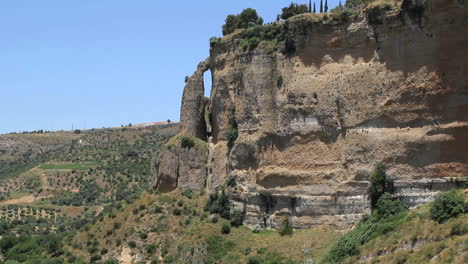
<path fill-rule="evenodd" d="M 180 124 L 0 135 L 0 263 L 467 263 L 467 17 L 245 9 Z"/>

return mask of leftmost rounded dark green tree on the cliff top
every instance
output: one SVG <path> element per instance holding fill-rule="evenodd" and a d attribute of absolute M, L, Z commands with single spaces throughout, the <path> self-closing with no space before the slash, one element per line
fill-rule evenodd
<path fill-rule="evenodd" d="M 231 34 L 236 29 L 251 28 L 263 25 L 263 18 L 259 17 L 257 11 L 247 8 L 238 15 L 228 15 L 223 25 L 223 36 Z"/>

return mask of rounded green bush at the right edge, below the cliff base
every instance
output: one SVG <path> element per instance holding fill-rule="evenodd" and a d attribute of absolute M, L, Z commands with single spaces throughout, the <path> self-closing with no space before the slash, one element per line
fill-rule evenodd
<path fill-rule="evenodd" d="M 465 199 L 460 191 L 451 190 L 441 193 L 431 203 L 431 219 L 443 223 L 450 218 L 465 213 L 466 208 Z"/>

